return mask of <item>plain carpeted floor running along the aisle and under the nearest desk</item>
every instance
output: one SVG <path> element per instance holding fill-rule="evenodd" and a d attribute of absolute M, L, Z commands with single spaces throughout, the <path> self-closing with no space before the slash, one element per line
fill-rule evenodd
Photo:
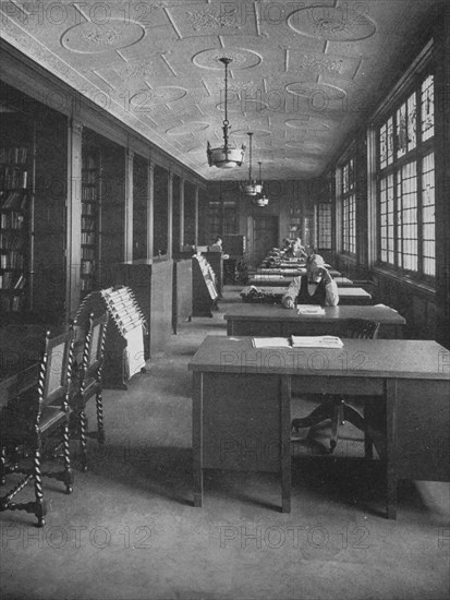
<path fill-rule="evenodd" d="M 180 324 L 146 374 L 105 392 L 107 443 L 89 440 L 90 470 L 75 471 L 72 495 L 46 480 L 44 529 L 0 515 L 2 600 L 448 598 L 449 485 L 402 482 L 387 520 L 384 473 L 360 459 L 351 427 L 333 457 L 326 430 L 292 444 L 291 514 L 277 509 L 270 473 L 207 472 L 204 507 L 192 506 L 187 362 L 205 335 L 226 335 L 236 299 L 226 288 L 212 319 Z M 294 398 L 292 416 L 304 411 Z M 76 465 L 75 442 L 73 454 Z"/>

